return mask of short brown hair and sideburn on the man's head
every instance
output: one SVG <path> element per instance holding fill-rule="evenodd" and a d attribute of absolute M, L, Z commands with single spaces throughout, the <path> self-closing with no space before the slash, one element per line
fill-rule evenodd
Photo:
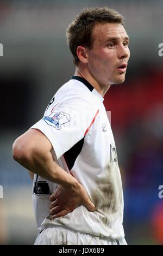
<path fill-rule="evenodd" d="M 123 25 L 124 18 L 116 10 L 107 7 L 84 9 L 66 29 L 67 44 L 70 47 L 76 66 L 79 63 L 77 47 L 82 45 L 92 49 L 92 31 L 97 23 L 120 23 Z"/>

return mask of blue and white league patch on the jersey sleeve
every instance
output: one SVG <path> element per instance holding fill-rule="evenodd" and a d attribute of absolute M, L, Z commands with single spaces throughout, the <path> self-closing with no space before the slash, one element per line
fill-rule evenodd
<path fill-rule="evenodd" d="M 67 116 L 61 114 L 60 112 L 52 112 L 49 116 L 44 116 L 43 120 L 49 126 L 53 126 L 57 130 L 60 130 L 63 124 L 70 122 Z"/>

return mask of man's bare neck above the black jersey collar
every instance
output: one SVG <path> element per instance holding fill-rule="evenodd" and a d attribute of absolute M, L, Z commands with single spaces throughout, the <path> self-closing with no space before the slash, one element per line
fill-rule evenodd
<path fill-rule="evenodd" d="M 81 76 L 85 78 L 95 89 L 96 91 L 104 97 L 105 93 L 108 92 L 111 85 L 101 85 L 99 82 L 93 77 L 93 75 L 86 68 L 76 67 L 76 72 L 74 75 Z"/>

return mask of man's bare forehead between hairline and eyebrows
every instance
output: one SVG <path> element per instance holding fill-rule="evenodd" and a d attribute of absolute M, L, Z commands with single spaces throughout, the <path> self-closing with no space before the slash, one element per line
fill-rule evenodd
<path fill-rule="evenodd" d="M 92 36 L 94 41 L 105 41 L 110 37 L 123 38 L 127 37 L 127 32 L 121 24 L 105 23 L 97 24 L 93 28 Z"/>

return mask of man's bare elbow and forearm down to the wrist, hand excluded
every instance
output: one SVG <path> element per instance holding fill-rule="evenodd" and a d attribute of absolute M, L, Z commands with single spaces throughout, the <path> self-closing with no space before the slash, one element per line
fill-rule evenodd
<path fill-rule="evenodd" d="M 32 173 L 65 188 L 78 187 L 76 178 L 55 162 L 51 150 L 51 142 L 35 129 L 30 129 L 21 135 L 12 146 L 14 159 Z"/>

